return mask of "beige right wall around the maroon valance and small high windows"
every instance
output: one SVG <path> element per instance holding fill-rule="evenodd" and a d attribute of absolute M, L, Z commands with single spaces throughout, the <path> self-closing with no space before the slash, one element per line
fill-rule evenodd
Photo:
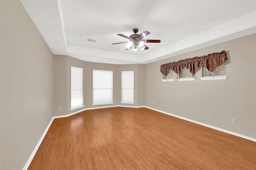
<path fill-rule="evenodd" d="M 145 105 L 256 138 L 255 47 L 253 34 L 146 64 Z M 203 81 L 200 68 L 194 81 L 161 81 L 160 65 L 222 50 L 228 55 L 226 80 Z"/>

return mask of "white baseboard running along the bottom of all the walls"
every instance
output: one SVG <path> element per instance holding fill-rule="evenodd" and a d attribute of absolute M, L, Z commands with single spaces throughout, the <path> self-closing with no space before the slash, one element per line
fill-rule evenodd
<path fill-rule="evenodd" d="M 50 123 L 48 124 L 48 126 L 46 127 L 46 129 L 44 130 L 44 133 L 42 134 L 40 140 L 38 141 L 38 143 L 36 144 L 36 147 L 34 148 L 32 154 L 30 155 L 30 157 L 28 158 L 28 161 L 26 162 L 25 166 L 23 167 L 23 170 L 27 170 L 31 161 L 33 160 L 40 144 L 42 143 L 43 139 L 44 139 L 44 136 L 46 135 L 48 129 L 50 128 L 50 126 L 52 125 L 52 122 L 54 119 L 56 118 L 62 118 L 62 117 L 69 117 L 69 116 L 72 116 L 72 115 L 75 115 L 76 113 L 80 113 L 82 111 L 86 111 L 86 110 L 92 110 L 92 109 L 104 109 L 104 108 L 109 108 L 109 107 L 131 107 L 131 108 L 141 108 L 141 107 L 146 107 L 148 109 L 151 109 L 151 110 L 154 110 L 154 111 L 158 111 L 158 112 L 161 112 L 161 113 L 164 113 L 166 115 L 170 115 L 170 116 L 173 116 L 173 117 L 177 117 L 177 118 L 180 118 L 180 119 L 183 119 L 183 120 L 186 120 L 186 121 L 190 121 L 192 123 L 196 123 L 196 124 L 199 124 L 199 125 L 203 125 L 205 127 L 209 127 L 209 128 L 213 128 L 215 130 L 220 130 L 222 132 L 226 132 L 228 134 L 233 134 L 235 136 L 239 136 L 241 138 L 245 138 L 245 139 L 248 139 L 248 140 L 252 140 L 254 142 L 256 142 L 256 138 L 252 138 L 252 137 L 249 137 L 249 136 L 245 136 L 243 134 L 238 134 L 238 133 L 235 133 L 235 132 L 232 132 L 232 131 L 229 131 L 229 130 L 225 130 L 225 129 L 222 129 L 222 128 L 218 128 L 218 127 L 214 127 L 212 125 L 207 125 L 205 123 L 201 123 L 201 122 L 198 122 L 198 121 L 194 121 L 194 120 L 191 120 L 191 119 L 187 119 L 185 117 L 181 117 L 181 116 L 178 116 L 178 115 L 173 115 L 171 113 L 168 113 L 168 112 L 164 112 L 164 111 L 160 111 L 158 109 L 154 109 L 154 108 L 151 108 L 151 107 L 147 107 L 147 106 L 124 106 L 124 105 L 115 105 L 115 106 L 106 106 L 106 107 L 92 107 L 92 108 L 86 108 L 86 109 L 82 109 L 80 111 L 76 111 L 74 113 L 70 113 L 68 115 L 62 115 L 62 116 L 54 116 L 52 117 Z"/>

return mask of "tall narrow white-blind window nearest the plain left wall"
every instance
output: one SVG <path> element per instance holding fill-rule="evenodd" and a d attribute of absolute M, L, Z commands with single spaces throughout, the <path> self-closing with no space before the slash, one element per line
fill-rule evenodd
<path fill-rule="evenodd" d="M 83 69 L 71 66 L 71 108 L 84 107 L 83 105 Z"/>

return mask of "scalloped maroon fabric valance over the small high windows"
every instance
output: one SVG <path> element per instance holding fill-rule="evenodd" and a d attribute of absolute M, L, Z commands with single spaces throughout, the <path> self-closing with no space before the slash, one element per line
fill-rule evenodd
<path fill-rule="evenodd" d="M 222 65 L 227 60 L 226 51 L 223 50 L 220 53 L 211 53 L 208 55 L 204 55 L 202 57 L 193 57 L 188 59 L 183 59 L 178 62 L 166 63 L 162 64 L 160 68 L 160 72 L 163 75 L 168 75 L 170 69 L 172 69 L 177 75 L 181 73 L 181 70 L 186 67 L 190 70 L 190 73 L 196 73 L 196 69 L 203 65 L 209 71 L 214 71 L 217 67 Z"/>

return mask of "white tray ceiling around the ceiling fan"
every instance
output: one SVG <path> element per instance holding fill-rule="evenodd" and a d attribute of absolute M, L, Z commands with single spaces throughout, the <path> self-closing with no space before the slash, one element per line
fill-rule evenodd
<path fill-rule="evenodd" d="M 88 62 L 145 64 L 256 33 L 255 0 L 21 2 L 54 54 Z M 125 50 L 124 43 L 112 45 L 127 41 L 116 34 L 130 36 L 133 28 L 161 42 L 136 52 Z"/>

